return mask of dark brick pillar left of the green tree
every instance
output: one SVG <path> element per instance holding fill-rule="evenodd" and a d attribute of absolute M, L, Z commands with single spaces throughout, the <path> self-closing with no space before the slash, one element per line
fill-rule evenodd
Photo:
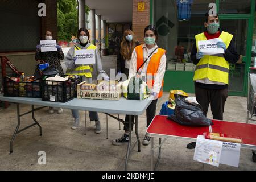
<path fill-rule="evenodd" d="M 51 30 L 53 39 L 57 40 L 57 0 L 43 0 L 41 2 L 46 4 L 46 17 L 41 18 L 42 39 L 44 39 L 46 30 Z"/>

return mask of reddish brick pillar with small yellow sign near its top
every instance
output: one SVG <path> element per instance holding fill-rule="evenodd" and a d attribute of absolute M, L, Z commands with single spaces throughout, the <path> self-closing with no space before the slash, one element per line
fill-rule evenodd
<path fill-rule="evenodd" d="M 145 10 L 138 11 L 138 2 L 145 2 Z M 133 32 L 144 43 L 144 28 L 150 24 L 150 0 L 133 0 Z"/>

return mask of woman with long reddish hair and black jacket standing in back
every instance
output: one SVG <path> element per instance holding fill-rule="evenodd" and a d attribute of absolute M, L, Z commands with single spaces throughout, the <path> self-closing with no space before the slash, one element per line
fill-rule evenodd
<path fill-rule="evenodd" d="M 123 39 L 119 52 L 117 53 L 117 73 L 125 73 L 126 78 L 129 75 L 131 53 L 136 46 L 139 45 L 139 42 L 135 38 L 133 31 L 127 29 L 123 32 Z"/>

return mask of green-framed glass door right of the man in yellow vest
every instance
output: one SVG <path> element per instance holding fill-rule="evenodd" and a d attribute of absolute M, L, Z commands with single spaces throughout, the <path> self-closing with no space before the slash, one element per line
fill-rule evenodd
<path fill-rule="evenodd" d="M 230 64 L 229 95 L 247 96 L 247 74 L 251 66 L 255 0 L 234 4 L 231 0 L 217 1 L 220 27 L 233 36 L 233 42 L 240 54 L 236 64 Z M 236 13 L 236 14 L 234 14 Z"/>

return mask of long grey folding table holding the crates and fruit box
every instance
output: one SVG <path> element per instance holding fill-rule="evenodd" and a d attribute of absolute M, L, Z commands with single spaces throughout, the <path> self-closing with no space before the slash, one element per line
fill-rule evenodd
<path fill-rule="evenodd" d="M 110 117 L 113 117 L 121 122 L 125 122 L 122 119 L 118 119 L 117 117 L 114 117 L 113 115 L 109 114 L 129 114 L 129 115 L 135 115 L 135 134 L 137 137 L 137 141 L 134 143 L 133 147 L 131 147 L 131 116 L 129 117 L 129 143 L 127 146 L 127 153 L 126 153 L 126 162 L 125 162 L 125 170 L 127 170 L 128 166 L 128 159 L 130 155 L 130 151 L 133 150 L 135 147 L 135 144 L 138 142 L 138 152 L 141 151 L 141 142 L 139 140 L 138 135 L 138 115 L 142 115 L 144 111 L 147 109 L 147 107 L 152 102 L 152 96 L 148 97 L 145 100 L 127 100 L 123 97 L 120 98 L 120 100 L 112 101 L 112 100 L 90 100 L 90 99 L 81 99 L 81 98 L 74 98 L 73 100 L 70 100 L 68 102 L 62 103 L 62 102 L 51 102 L 51 101 L 42 101 L 41 98 L 27 98 L 27 97 L 4 97 L 3 94 L 0 94 L 0 100 L 1 101 L 8 101 L 8 102 L 14 102 L 17 105 L 17 126 L 14 131 L 13 137 L 10 141 L 10 153 L 13 152 L 13 141 L 16 136 L 16 134 L 20 133 L 21 131 L 24 131 L 34 125 L 37 125 L 39 127 L 39 134 L 42 135 L 42 127 L 39 125 L 39 123 L 35 119 L 35 111 L 41 109 L 34 108 L 34 105 L 38 106 L 49 106 L 49 107 L 62 107 L 65 109 L 77 109 L 77 110 L 85 110 L 85 111 L 96 111 L 100 113 L 105 113 L 109 115 Z M 31 105 L 31 111 L 28 111 L 27 113 L 20 114 L 19 104 L 30 104 Z M 33 123 L 30 126 L 24 127 L 23 129 L 19 130 L 20 125 L 20 117 L 23 115 L 32 113 L 32 119 L 35 123 Z"/>

